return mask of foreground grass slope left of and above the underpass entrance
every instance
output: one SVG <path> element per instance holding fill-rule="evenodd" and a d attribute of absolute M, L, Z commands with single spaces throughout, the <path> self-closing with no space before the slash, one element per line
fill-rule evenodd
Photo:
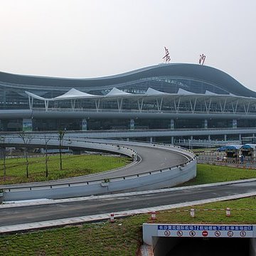
<path fill-rule="evenodd" d="M 231 208 L 231 216 L 225 210 Z M 191 218 L 191 207 L 165 210 L 156 214 L 156 223 L 256 224 L 256 198 L 208 203 L 194 206 L 196 217 Z M 212 209 L 205 211 L 200 209 Z M 255 210 L 233 210 L 250 208 Z M 199 211 L 198 211 L 199 210 Z M 143 214 L 102 223 L 91 223 L 38 232 L 1 235 L 0 255 L 136 255 L 142 242 L 142 223 L 151 223 L 150 215 Z"/>

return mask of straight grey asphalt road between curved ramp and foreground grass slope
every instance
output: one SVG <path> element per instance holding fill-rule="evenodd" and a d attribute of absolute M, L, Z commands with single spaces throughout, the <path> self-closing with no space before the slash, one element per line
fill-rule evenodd
<path fill-rule="evenodd" d="M 126 194 L 124 196 L 117 195 L 114 198 L 45 204 L 40 206 L 1 208 L 0 226 L 112 213 L 137 208 L 151 208 L 154 206 L 185 203 L 220 196 L 250 193 L 255 192 L 255 190 L 256 181 L 251 181 L 205 188 L 184 188 L 178 191 L 148 193 L 137 196 Z"/>

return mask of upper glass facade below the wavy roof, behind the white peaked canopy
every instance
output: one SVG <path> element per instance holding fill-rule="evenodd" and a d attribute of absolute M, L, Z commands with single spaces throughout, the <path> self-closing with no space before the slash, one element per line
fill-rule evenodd
<path fill-rule="evenodd" d="M 113 85 L 114 87 L 114 85 Z M 207 82 L 199 82 L 194 80 L 184 80 L 184 79 L 172 79 L 172 78 L 149 78 L 149 80 L 135 80 L 132 82 L 132 85 L 119 84 L 117 88 L 123 90 L 124 92 L 129 92 L 135 95 L 143 95 L 146 90 L 151 87 L 154 90 L 159 90 L 161 92 L 167 93 L 177 93 L 178 89 L 187 90 L 188 92 L 205 94 L 206 91 L 210 91 L 213 93 L 228 95 L 228 92 L 220 89 L 216 85 L 210 85 Z M 46 88 L 49 90 L 50 88 Z M 53 98 L 58 97 L 59 95 L 64 94 L 67 90 L 29 90 L 29 92 L 34 93 L 38 96 L 45 98 Z M 87 92 L 93 93 L 95 95 L 106 95 L 110 92 L 110 89 L 107 90 L 95 90 L 93 88 L 88 88 Z M 69 108 L 71 106 L 71 102 L 66 101 L 55 101 L 49 102 L 49 107 L 55 108 Z M 102 108 L 113 109 L 117 108 L 117 102 L 103 102 Z M 134 107 L 135 106 L 135 107 Z M 44 107 L 44 102 L 41 100 L 33 100 L 33 107 L 42 108 Z M 95 102 L 92 100 L 76 100 L 76 107 L 80 109 L 93 109 L 95 108 Z M 150 108 L 151 105 L 144 105 L 144 107 Z M 181 106 L 182 107 L 182 106 Z M 4 87 L 0 85 L 0 110 L 8 110 L 8 109 L 28 109 L 28 95 L 26 95 L 25 90 L 22 88 L 13 88 Z M 136 109 L 136 103 L 132 104 L 132 102 L 124 101 L 123 102 L 124 109 Z"/>

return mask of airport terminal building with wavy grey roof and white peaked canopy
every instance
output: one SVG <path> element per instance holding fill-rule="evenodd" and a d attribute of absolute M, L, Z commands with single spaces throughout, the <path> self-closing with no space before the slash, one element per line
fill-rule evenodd
<path fill-rule="evenodd" d="M 0 90 L 2 132 L 158 130 L 199 139 L 256 132 L 256 92 L 204 65 L 160 64 L 90 79 L 0 72 Z"/>

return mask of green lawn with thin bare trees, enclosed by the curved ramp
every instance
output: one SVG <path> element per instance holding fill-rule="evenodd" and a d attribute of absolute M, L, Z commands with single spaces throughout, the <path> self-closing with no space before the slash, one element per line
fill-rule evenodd
<path fill-rule="evenodd" d="M 26 178 L 26 159 L 6 159 L 6 182 L 4 182 L 4 164 L 0 161 L 0 184 L 26 183 L 33 181 L 50 181 L 60 178 L 70 178 L 97 172 L 108 171 L 129 164 L 132 160 L 123 156 L 92 155 L 64 155 L 63 171 L 60 171 L 58 155 L 50 156 L 48 160 L 48 178 L 46 179 L 46 164 L 44 157 L 28 159 L 28 173 Z"/>

